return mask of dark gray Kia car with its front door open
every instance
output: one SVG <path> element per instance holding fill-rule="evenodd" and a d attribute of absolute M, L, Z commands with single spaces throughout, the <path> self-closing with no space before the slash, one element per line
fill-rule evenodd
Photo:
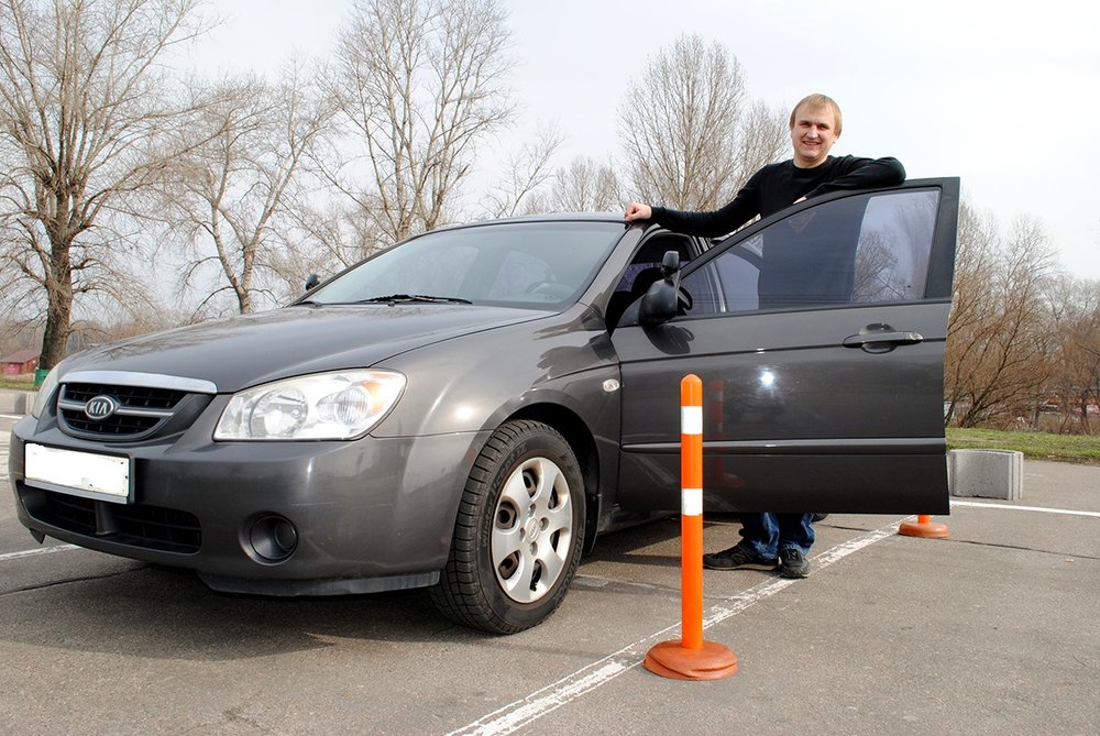
<path fill-rule="evenodd" d="M 957 179 L 801 202 L 711 242 L 612 216 L 437 230 L 274 311 L 73 355 L 12 432 L 20 520 L 212 589 L 431 586 L 494 633 L 596 537 L 680 508 L 948 510 Z"/>

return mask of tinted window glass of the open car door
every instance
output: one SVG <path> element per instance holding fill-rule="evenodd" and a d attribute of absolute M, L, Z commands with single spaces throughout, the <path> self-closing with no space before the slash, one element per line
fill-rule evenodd
<path fill-rule="evenodd" d="M 915 190 L 796 212 L 685 276 L 691 315 L 923 298 L 937 205 Z"/>

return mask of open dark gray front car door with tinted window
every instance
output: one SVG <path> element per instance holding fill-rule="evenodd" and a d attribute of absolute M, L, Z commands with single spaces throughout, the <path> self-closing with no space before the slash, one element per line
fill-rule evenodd
<path fill-rule="evenodd" d="M 682 271 L 685 314 L 612 336 L 624 509 L 680 507 L 680 381 L 703 381 L 711 510 L 945 514 L 957 178 L 835 193 Z M 638 310 L 632 310 L 637 314 Z"/>

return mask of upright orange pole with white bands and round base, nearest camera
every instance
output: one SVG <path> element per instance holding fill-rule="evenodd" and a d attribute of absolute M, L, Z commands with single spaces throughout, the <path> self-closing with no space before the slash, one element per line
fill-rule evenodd
<path fill-rule="evenodd" d="M 717 680 L 737 671 L 737 656 L 703 639 L 703 382 L 680 382 L 681 639 L 654 645 L 642 662 L 676 680 Z"/>

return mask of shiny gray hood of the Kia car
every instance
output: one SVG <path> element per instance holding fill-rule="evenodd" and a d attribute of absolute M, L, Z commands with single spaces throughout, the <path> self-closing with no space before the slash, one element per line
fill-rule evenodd
<path fill-rule="evenodd" d="M 544 311 L 485 306 L 297 306 L 95 348 L 65 361 L 64 370 L 198 378 L 227 393 L 293 375 L 371 366 L 442 340 L 544 317 Z"/>

